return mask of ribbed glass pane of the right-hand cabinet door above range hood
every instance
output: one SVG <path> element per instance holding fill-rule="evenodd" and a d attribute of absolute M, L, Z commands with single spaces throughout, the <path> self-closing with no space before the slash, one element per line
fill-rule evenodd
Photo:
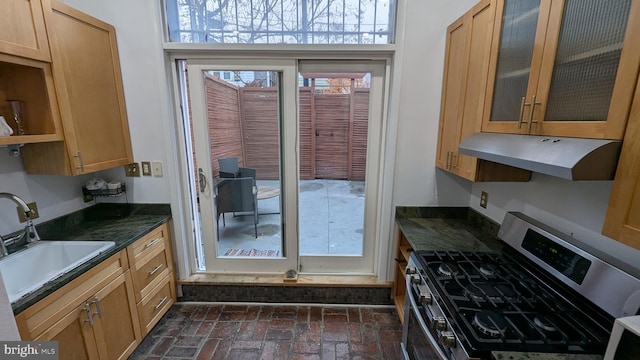
<path fill-rule="evenodd" d="M 545 121 L 607 119 L 631 0 L 566 0 Z"/>

